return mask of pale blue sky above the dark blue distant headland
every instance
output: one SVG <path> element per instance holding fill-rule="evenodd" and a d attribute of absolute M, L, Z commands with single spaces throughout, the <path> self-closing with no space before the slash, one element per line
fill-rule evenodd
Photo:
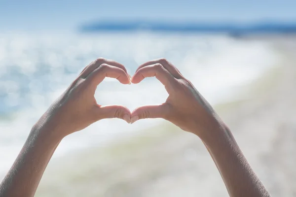
<path fill-rule="evenodd" d="M 296 0 L 0 0 L 0 31 L 75 30 L 97 19 L 296 22 Z"/>

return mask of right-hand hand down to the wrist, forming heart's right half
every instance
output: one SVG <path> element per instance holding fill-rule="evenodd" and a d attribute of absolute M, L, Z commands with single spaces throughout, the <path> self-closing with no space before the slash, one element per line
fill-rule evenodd
<path fill-rule="evenodd" d="M 161 105 L 142 106 L 131 115 L 131 123 L 144 118 L 163 118 L 202 136 L 207 131 L 220 127 L 220 119 L 211 105 L 199 94 L 191 82 L 165 59 L 149 61 L 137 69 L 131 79 L 140 83 L 145 77 L 155 76 L 169 94 Z"/>

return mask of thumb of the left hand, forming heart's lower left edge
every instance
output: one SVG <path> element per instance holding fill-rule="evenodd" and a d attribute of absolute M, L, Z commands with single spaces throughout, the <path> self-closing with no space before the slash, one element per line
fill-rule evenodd
<path fill-rule="evenodd" d="M 106 105 L 97 107 L 96 113 L 98 119 L 120 118 L 130 123 L 131 112 L 128 108 L 121 105 Z"/>

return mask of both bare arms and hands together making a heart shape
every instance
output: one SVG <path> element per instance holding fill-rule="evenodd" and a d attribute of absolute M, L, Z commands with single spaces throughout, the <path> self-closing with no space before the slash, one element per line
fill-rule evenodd
<path fill-rule="evenodd" d="M 165 86 L 168 99 L 161 105 L 142 106 L 131 113 L 123 106 L 101 106 L 94 98 L 97 85 L 105 77 L 129 84 L 125 67 L 103 58 L 86 66 L 33 127 L 0 185 L 0 197 L 34 196 L 60 141 L 104 118 L 121 118 L 128 123 L 144 118 L 168 120 L 201 138 L 231 197 L 269 197 L 230 130 L 180 71 L 165 59 L 152 60 L 137 69 L 131 82 L 140 83 L 145 77 L 152 76 Z"/>

